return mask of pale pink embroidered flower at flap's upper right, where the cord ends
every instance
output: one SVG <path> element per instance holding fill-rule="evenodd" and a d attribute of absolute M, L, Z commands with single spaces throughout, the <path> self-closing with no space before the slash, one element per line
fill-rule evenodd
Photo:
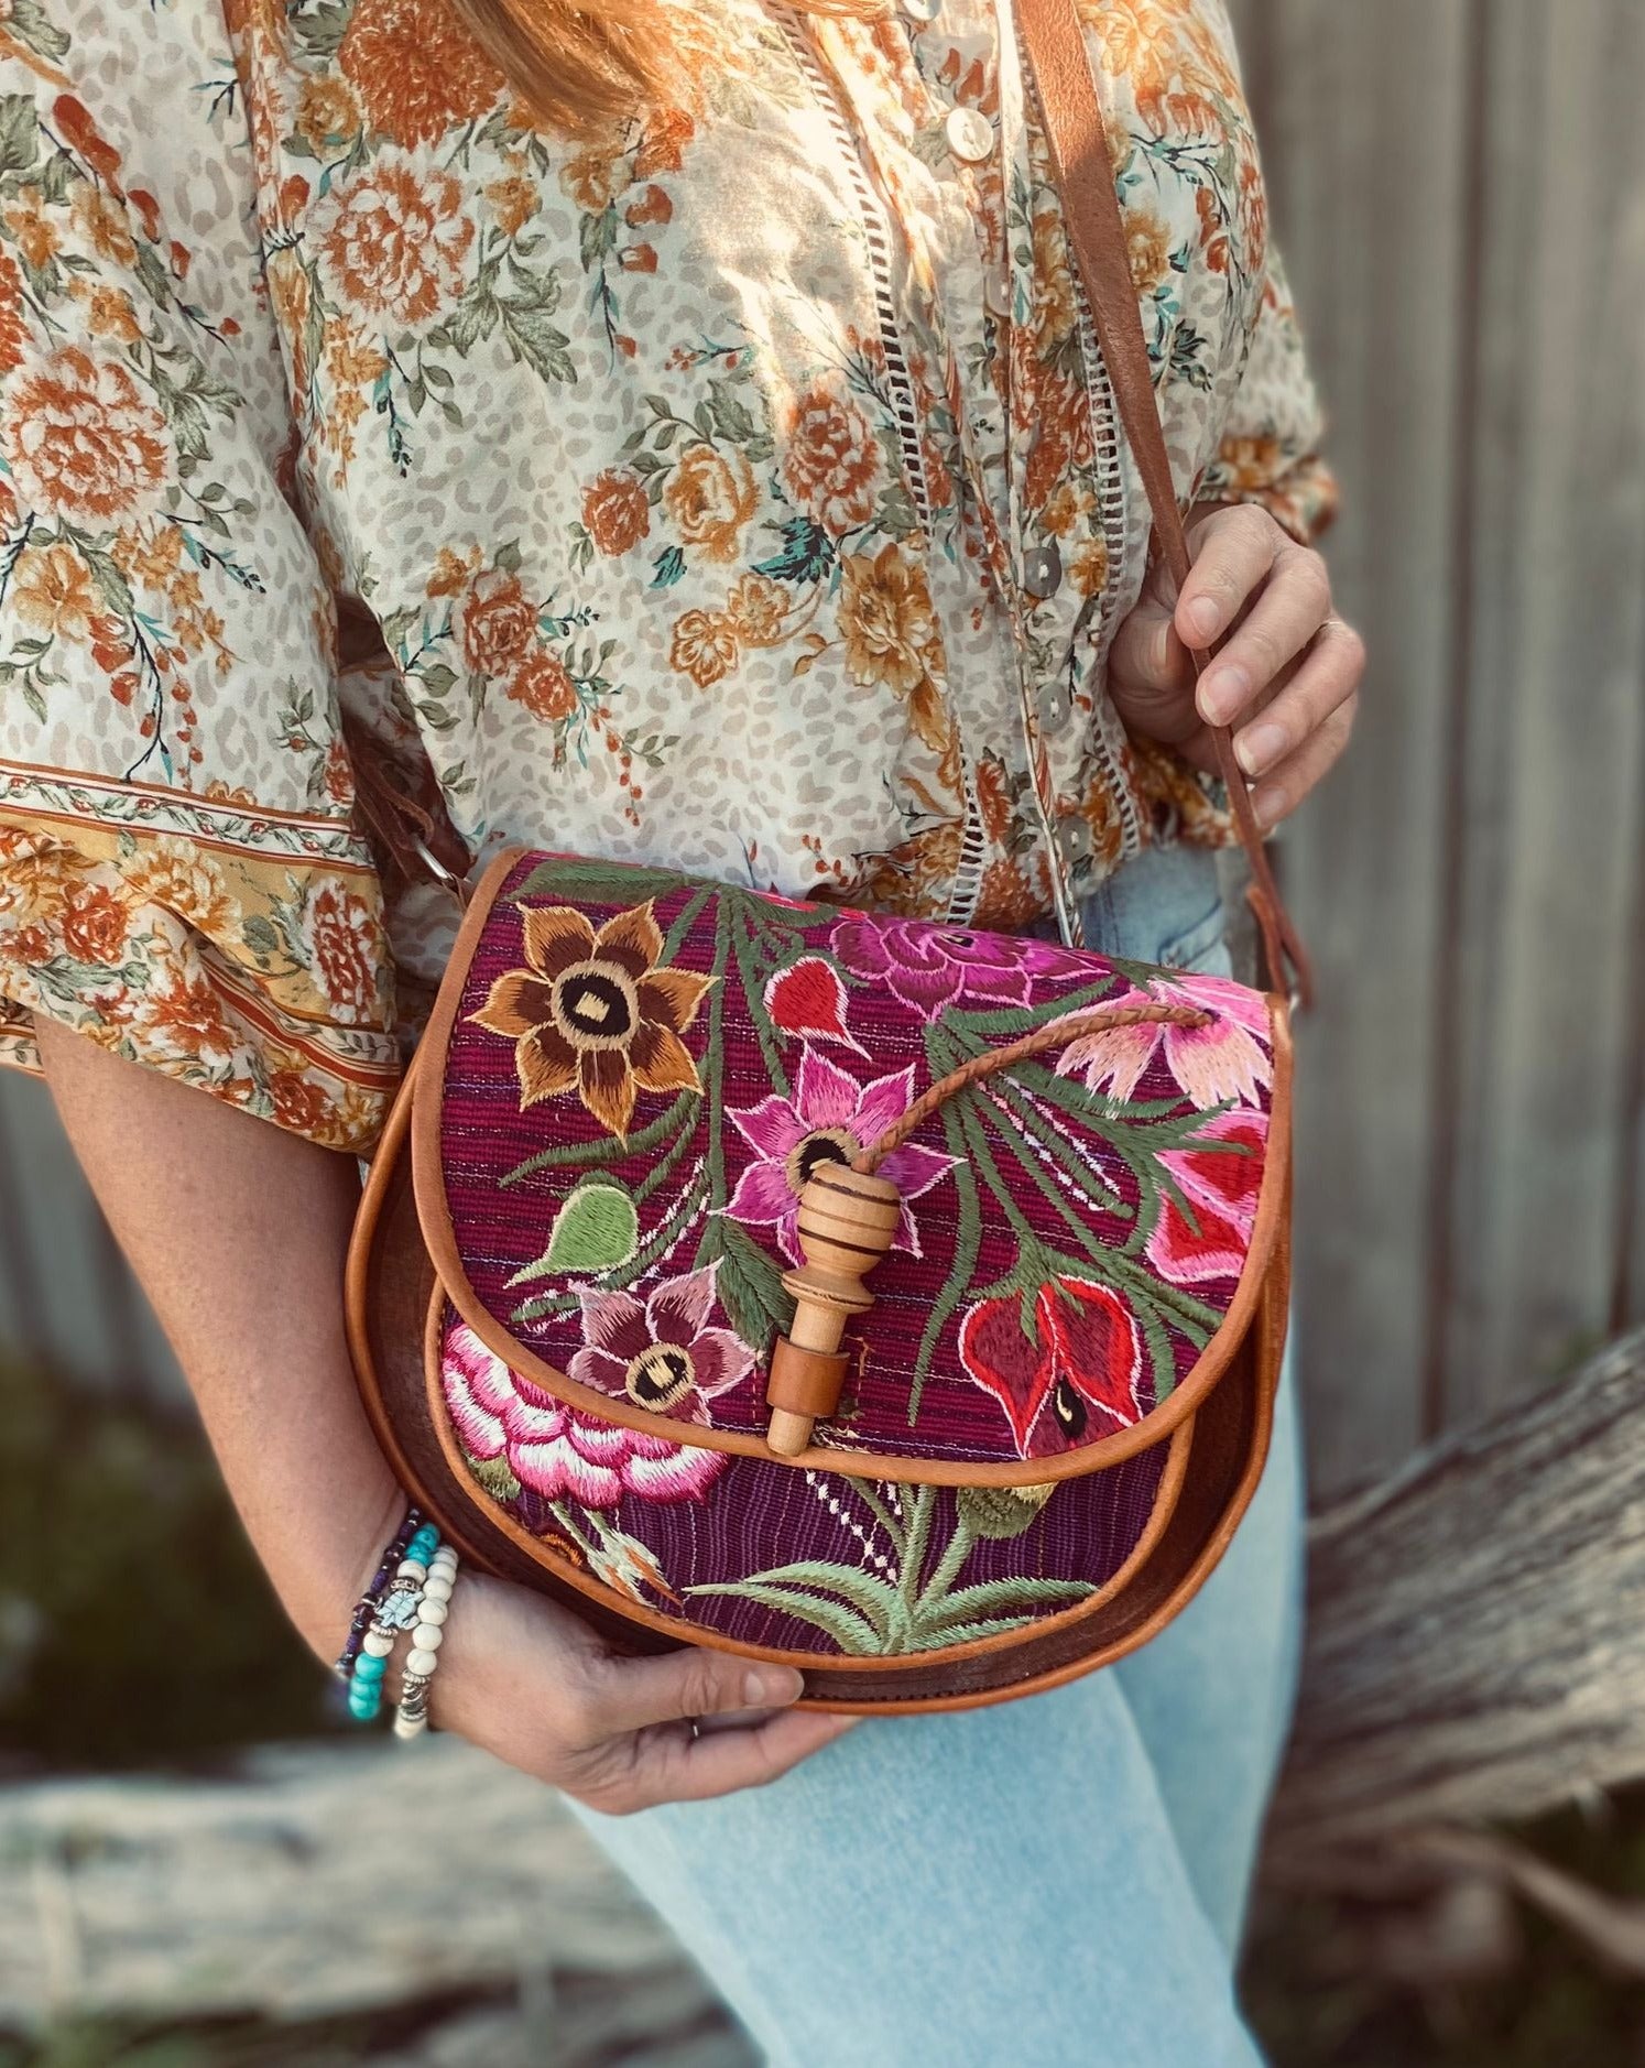
<path fill-rule="evenodd" d="M 1108 1001 L 1106 1001 L 1108 1003 Z M 1064 1077 L 1083 1077 L 1093 1092 L 1135 1098 L 1155 1053 L 1180 1090 L 1209 1113 L 1230 1098 L 1259 1104 L 1273 1084 L 1269 1009 L 1261 993 L 1221 976 L 1157 978 L 1147 991 L 1126 991 L 1114 1005 L 1194 1005 L 1215 1017 L 1209 1028 L 1141 1026 L 1079 1034 L 1056 1061 Z"/>

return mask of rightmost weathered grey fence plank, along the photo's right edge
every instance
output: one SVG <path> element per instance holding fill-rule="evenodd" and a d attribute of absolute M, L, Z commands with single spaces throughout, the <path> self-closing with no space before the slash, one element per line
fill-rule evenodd
<path fill-rule="evenodd" d="M 1614 1315 L 1645 823 L 1645 12 L 1502 0 L 1484 62 L 1451 1419 Z"/>

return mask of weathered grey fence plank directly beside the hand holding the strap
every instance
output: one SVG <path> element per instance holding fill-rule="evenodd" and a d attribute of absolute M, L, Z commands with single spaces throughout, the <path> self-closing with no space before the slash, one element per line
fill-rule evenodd
<path fill-rule="evenodd" d="M 1244 0 L 1275 227 L 1331 412 L 1329 558 L 1366 627 L 1347 763 L 1285 840 L 1318 962 L 1300 1034 L 1298 1284 L 1316 1485 L 1420 1437 L 1467 252 L 1463 0 Z"/>

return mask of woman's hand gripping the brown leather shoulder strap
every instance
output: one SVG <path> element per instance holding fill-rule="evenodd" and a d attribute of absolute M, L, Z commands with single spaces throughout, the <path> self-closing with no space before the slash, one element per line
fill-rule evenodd
<path fill-rule="evenodd" d="M 1331 612 L 1325 560 L 1265 509 L 1207 509 L 1188 523 L 1192 573 L 1172 596 L 1163 562 L 1114 637 L 1108 687 L 1132 732 L 1215 769 L 1209 726 L 1238 726 L 1263 827 L 1277 825 L 1347 747 L 1366 649 Z M 1194 687 L 1188 649 L 1228 645 Z"/>

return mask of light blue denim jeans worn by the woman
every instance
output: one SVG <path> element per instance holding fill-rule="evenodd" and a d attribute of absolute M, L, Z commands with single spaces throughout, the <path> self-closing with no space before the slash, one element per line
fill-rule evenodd
<path fill-rule="evenodd" d="M 1209 856 L 1145 854 L 1093 947 L 1228 972 Z M 1290 1371 L 1263 1485 L 1120 1665 L 858 1725 L 769 1789 L 583 1824 L 773 2068 L 1252 2068 L 1234 1956 L 1298 1663 Z"/>

